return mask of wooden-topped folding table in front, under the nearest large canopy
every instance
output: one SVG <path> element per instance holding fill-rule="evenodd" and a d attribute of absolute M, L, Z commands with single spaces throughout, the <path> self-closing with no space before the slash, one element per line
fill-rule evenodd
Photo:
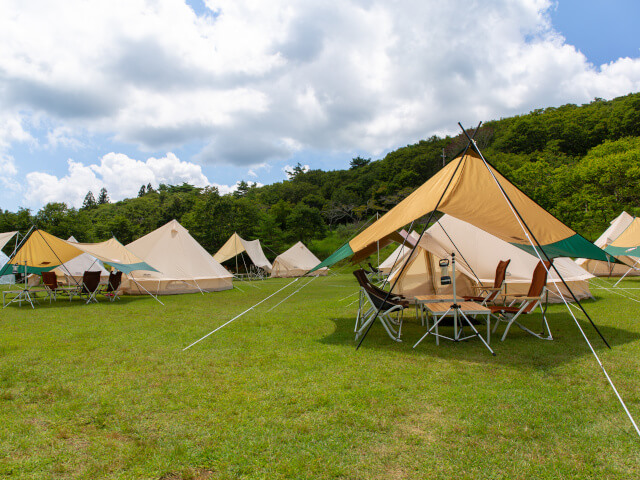
<path fill-rule="evenodd" d="M 478 337 L 484 343 L 484 345 L 489 349 L 491 353 L 493 350 L 489 346 L 491 342 L 491 309 L 480 305 L 476 302 L 461 302 L 457 305 L 452 305 L 449 302 L 431 302 L 425 303 L 424 308 L 426 308 L 427 313 L 431 315 L 434 319 L 433 326 L 427 330 L 420 340 L 416 342 L 413 346 L 415 348 L 418 346 L 422 340 L 424 340 L 427 335 L 431 334 L 436 337 L 436 345 L 440 344 L 440 338 L 444 338 L 446 340 L 451 340 L 453 342 L 460 342 L 462 340 L 467 340 L 469 338 Z M 469 319 L 469 316 L 479 316 L 486 315 L 487 316 L 487 340 L 485 341 L 482 336 L 478 333 L 476 328 L 473 326 L 473 323 Z M 442 335 L 438 331 L 438 325 L 445 317 L 453 317 L 453 337 L 447 337 L 446 335 Z M 462 317 L 462 318 L 460 318 Z M 463 323 L 465 322 L 471 329 L 473 330 L 473 335 L 463 335 Z M 495 355 L 495 354 L 494 354 Z"/>

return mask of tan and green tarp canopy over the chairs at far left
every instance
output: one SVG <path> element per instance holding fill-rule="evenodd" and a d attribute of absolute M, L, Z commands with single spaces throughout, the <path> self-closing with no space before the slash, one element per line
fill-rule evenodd
<path fill-rule="evenodd" d="M 20 272 L 41 274 L 88 253 L 123 273 L 134 270 L 155 269 L 128 251 L 115 238 L 100 243 L 72 243 L 43 230 L 34 229 L 20 249 L 0 271 L 0 275 L 12 273 L 18 266 Z"/>

